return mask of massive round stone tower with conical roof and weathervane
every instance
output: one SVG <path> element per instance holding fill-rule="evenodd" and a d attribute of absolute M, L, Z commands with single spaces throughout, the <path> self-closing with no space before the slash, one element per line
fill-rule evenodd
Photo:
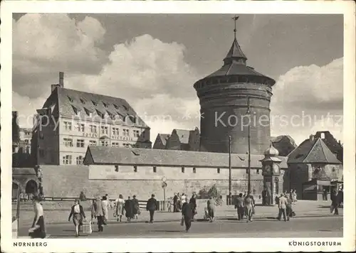
<path fill-rule="evenodd" d="M 248 152 L 248 124 L 251 154 L 263 154 L 270 144 L 270 77 L 246 65 L 246 56 L 235 38 L 216 72 L 194 84 L 200 100 L 200 148 L 208 152 Z M 250 123 L 248 123 L 250 122 Z"/>

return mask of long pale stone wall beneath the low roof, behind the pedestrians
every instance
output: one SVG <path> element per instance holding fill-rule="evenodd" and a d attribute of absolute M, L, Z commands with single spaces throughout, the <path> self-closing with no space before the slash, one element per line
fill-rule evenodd
<path fill-rule="evenodd" d="M 157 200 L 163 200 L 161 179 L 149 176 L 147 171 L 142 171 L 142 167 L 138 168 L 138 171 L 145 175 L 140 177 L 142 179 L 137 176 L 132 176 L 132 179 L 130 179 L 123 173 L 117 173 L 115 178 L 102 177 L 103 179 L 100 179 L 98 168 L 93 168 L 96 170 L 94 173 L 93 171 L 90 172 L 88 166 L 41 166 L 41 168 L 43 171 L 43 193 L 48 197 L 79 196 L 80 192 L 83 191 L 87 198 L 95 198 L 108 193 L 110 198 L 117 198 L 119 194 L 122 194 L 124 198 L 129 195 L 137 195 L 137 199 L 147 200 L 154 193 Z M 181 174 L 177 174 L 177 171 L 169 173 L 169 168 L 167 168 L 166 173 L 159 173 L 159 178 L 162 178 L 162 176 L 167 178 L 166 198 L 173 197 L 174 193 L 185 193 L 190 198 L 193 192 L 199 193 L 199 190 L 203 188 L 209 190 L 214 184 L 216 184 L 221 195 L 229 193 L 228 176 L 225 176 L 226 179 L 222 179 L 223 177 L 221 176 L 221 178 L 214 180 L 209 175 L 209 171 L 202 171 L 202 168 L 197 168 L 197 173 L 190 172 L 190 174 L 188 170 L 192 171 L 192 168 L 186 168 L 186 170 L 186 173 L 182 173 L 184 174 L 184 179 Z M 214 170 L 216 171 L 216 169 Z M 134 172 L 131 173 L 134 175 Z M 206 175 L 204 176 L 206 179 L 203 179 L 203 176 L 197 176 L 201 173 Z M 195 176 L 192 176 L 192 174 L 195 174 Z M 226 175 L 226 170 L 223 171 L 221 169 L 221 174 Z M 233 170 L 232 194 L 244 193 L 247 190 L 246 177 L 245 169 Z M 263 177 L 261 174 L 256 174 L 256 171 L 251 173 L 251 190 L 253 189 L 256 191 L 256 195 L 261 194 L 261 190 L 263 190 Z"/>

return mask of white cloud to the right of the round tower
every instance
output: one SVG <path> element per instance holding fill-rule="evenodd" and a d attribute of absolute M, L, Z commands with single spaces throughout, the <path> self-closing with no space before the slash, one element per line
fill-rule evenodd
<path fill-rule="evenodd" d="M 300 143 L 328 130 L 342 140 L 342 60 L 295 67 L 278 78 L 271 101 L 273 135 L 289 134 Z"/>

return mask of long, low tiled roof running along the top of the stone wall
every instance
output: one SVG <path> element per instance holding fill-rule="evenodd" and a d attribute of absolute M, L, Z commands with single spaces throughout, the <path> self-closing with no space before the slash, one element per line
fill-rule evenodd
<path fill-rule="evenodd" d="M 84 162 L 93 158 L 94 164 L 126 164 L 146 166 L 187 166 L 229 168 L 229 154 L 178 151 L 165 149 L 127 149 L 124 147 L 88 146 Z M 261 168 L 260 160 L 263 155 L 251 155 L 251 168 Z M 282 160 L 281 168 L 288 168 L 286 157 Z M 246 154 L 231 154 L 232 168 L 247 168 Z"/>

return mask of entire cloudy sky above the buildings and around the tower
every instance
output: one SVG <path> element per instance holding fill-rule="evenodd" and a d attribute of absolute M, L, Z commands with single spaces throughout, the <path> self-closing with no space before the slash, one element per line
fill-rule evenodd
<path fill-rule="evenodd" d="M 200 127 L 194 82 L 221 68 L 229 14 L 14 14 L 13 110 L 31 127 L 65 72 L 70 89 L 121 97 L 157 133 Z M 342 141 L 342 15 L 239 15 L 247 64 L 276 80 L 271 135 Z M 27 118 L 25 118 L 27 117 Z M 282 119 L 286 119 L 283 121 Z"/>

